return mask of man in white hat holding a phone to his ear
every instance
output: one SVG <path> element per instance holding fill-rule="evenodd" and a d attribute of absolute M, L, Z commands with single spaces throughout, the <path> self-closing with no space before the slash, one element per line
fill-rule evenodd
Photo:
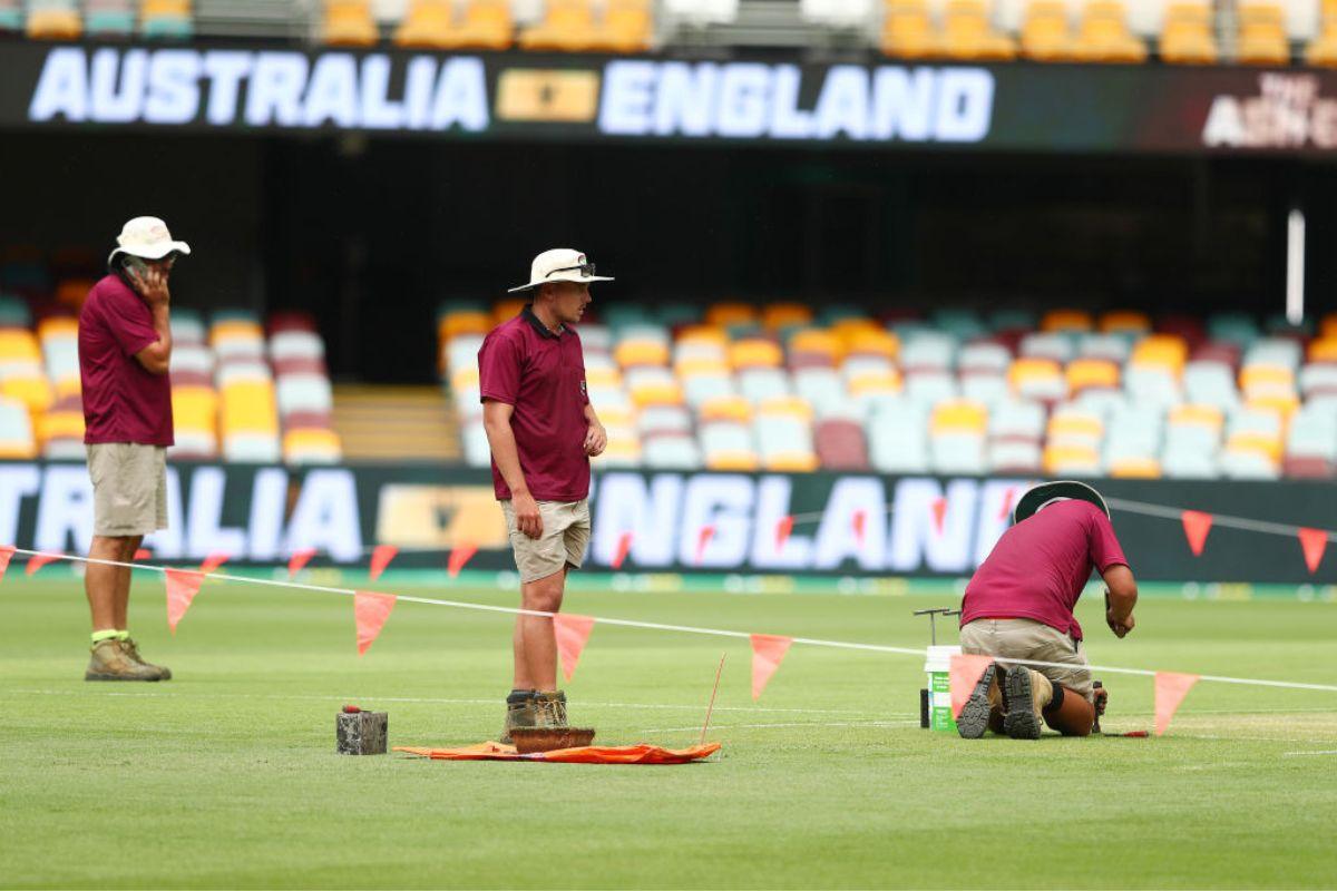
<path fill-rule="evenodd" d="M 88 556 L 130 562 L 146 534 L 167 528 L 167 446 L 172 445 L 167 279 L 190 254 L 156 216 L 126 223 L 108 273 L 79 313 L 84 443 L 94 489 Z M 127 629 L 130 569 L 90 562 L 92 659 L 84 680 L 158 681 L 171 671 L 139 655 Z"/>

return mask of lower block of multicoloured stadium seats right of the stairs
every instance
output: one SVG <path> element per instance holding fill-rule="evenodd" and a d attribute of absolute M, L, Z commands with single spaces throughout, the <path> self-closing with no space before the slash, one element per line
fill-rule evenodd
<path fill-rule="evenodd" d="M 464 458 L 489 461 L 477 350 L 507 302 L 441 309 Z M 670 318 L 671 317 L 671 318 Z M 1337 318 L 1313 337 L 1206 321 L 717 303 L 580 326 L 603 466 L 1330 478 Z M 1273 333 L 1273 330 L 1278 333 Z"/>

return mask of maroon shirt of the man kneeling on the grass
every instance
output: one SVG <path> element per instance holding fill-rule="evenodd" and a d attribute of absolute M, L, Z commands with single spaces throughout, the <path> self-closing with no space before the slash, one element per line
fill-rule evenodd
<path fill-rule="evenodd" d="M 1114 526 L 1088 501 L 1060 501 L 1003 533 L 975 570 L 961 601 L 961 624 L 976 618 L 1034 618 L 1082 640 L 1072 614 L 1091 569 L 1128 565 Z"/>

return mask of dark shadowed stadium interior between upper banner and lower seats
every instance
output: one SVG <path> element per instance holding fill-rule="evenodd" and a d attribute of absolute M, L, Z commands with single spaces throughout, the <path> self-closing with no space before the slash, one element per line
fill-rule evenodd
<path fill-rule="evenodd" d="M 0 151 L 25 171 L 13 206 L 52 208 L 5 215 L 7 243 L 100 248 L 127 214 L 160 214 L 197 248 L 183 305 L 313 311 L 348 379 L 431 379 L 440 301 L 500 297 L 550 243 L 618 275 L 607 299 L 1257 313 L 1282 309 L 1300 202 L 1309 309 L 1337 307 L 1337 168 L 1298 160 L 360 136 L 11 135 Z"/>

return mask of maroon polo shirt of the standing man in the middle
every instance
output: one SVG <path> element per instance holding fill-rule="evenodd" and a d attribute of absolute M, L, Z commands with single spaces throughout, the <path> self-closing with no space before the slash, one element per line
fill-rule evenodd
<path fill-rule="evenodd" d="M 590 494 L 590 457 L 584 452 L 590 397 L 579 334 L 570 326 L 554 334 L 525 306 L 483 341 L 479 390 L 484 401 L 515 407 L 511 430 L 535 501 L 580 501 Z M 492 488 L 497 500 L 511 498 L 495 458 Z"/>

